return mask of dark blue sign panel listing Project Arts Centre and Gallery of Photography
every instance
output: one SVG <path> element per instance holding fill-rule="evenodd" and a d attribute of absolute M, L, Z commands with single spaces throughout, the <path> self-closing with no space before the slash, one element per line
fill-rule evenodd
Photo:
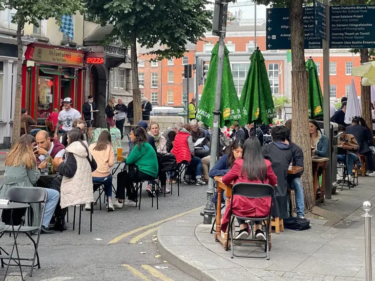
<path fill-rule="evenodd" d="M 330 48 L 375 48 L 375 5 L 331 6 Z"/>

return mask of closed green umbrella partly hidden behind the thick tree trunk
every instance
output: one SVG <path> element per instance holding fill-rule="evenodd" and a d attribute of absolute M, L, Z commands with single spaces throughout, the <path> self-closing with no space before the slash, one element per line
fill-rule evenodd
<path fill-rule="evenodd" d="M 309 118 L 323 117 L 322 88 L 320 87 L 316 64 L 311 57 L 306 61 L 306 71 L 309 73 Z"/>

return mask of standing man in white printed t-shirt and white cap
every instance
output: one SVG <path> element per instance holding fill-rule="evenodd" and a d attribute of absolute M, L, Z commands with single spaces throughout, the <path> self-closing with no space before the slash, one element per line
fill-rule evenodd
<path fill-rule="evenodd" d="M 59 113 L 58 121 L 56 124 L 55 138 L 58 138 L 59 133 L 65 134 L 73 128 L 73 121 L 81 119 L 81 113 L 72 107 L 73 100 L 65 98 L 62 101 L 62 111 Z M 59 130 L 62 125 L 62 129 Z"/>

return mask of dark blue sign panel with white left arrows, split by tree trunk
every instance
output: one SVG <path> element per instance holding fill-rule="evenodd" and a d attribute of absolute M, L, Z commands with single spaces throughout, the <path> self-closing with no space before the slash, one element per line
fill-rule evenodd
<path fill-rule="evenodd" d="M 303 8 L 303 22 L 305 27 L 305 49 L 321 49 L 322 38 L 315 36 L 314 7 Z M 291 28 L 289 26 L 289 8 L 267 9 L 266 18 L 266 49 L 291 49 Z"/>

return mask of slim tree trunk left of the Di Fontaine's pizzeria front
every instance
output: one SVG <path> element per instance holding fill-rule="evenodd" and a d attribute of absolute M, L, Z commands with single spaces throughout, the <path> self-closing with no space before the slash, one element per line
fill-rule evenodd
<path fill-rule="evenodd" d="M 21 31 L 23 27 L 23 22 L 20 21 L 17 24 L 17 82 L 16 82 L 16 97 L 14 105 L 14 117 L 13 117 L 13 133 L 12 133 L 12 146 L 20 140 L 21 134 L 21 102 L 22 102 L 22 39 Z"/>

